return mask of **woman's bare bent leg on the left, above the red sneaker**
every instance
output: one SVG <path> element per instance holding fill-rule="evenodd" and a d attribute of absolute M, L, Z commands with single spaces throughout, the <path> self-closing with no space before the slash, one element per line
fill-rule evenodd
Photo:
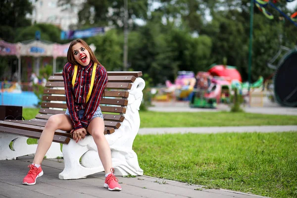
<path fill-rule="evenodd" d="M 49 120 L 40 136 L 37 150 L 33 160 L 34 164 L 41 164 L 52 143 L 54 132 L 57 130 L 70 131 L 72 123 L 70 116 L 66 114 L 56 114 L 49 117 Z"/>

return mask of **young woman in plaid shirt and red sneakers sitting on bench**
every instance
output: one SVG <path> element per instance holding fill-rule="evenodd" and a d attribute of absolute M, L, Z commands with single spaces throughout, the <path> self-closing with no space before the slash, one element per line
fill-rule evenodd
<path fill-rule="evenodd" d="M 113 174 L 111 152 L 104 136 L 104 122 L 99 102 L 107 84 L 107 72 L 99 63 L 89 45 L 77 39 L 71 42 L 68 62 L 63 69 L 67 109 L 65 114 L 56 114 L 49 120 L 42 132 L 33 163 L 24 185 L 34 185 L 36 178 L 43 175 L 42 160 L 47 153 L 57 129 L 71 131 L 78 143 L 89 132 L 97 145 L 99 158 L 105 171 L 104 188 L 121 191 L 118 179 Z M 93 82 L 92 82 L 93 77 Z"/>

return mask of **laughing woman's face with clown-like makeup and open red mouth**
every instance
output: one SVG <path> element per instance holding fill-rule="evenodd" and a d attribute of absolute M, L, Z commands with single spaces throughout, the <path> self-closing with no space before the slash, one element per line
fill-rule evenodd
<path fill-rule="evenodd" d="M 90 63 L 90 53 L 83 44 L 77 43 L 72 46 L 72 53 L 75 60 L 82 66 L 87 66 Z"/>

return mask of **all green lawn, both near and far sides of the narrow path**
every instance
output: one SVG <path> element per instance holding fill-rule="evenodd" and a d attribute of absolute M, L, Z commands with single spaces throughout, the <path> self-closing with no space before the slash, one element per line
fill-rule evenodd
<path fill-rule="evenodd" d="M 38 109 L 24 108 L 31 119 Z M 297 116 L 140 111 L 141 127 L 295 125 Z M 29 139 L 35 144 L 35 139 Z M 138 135 L 144 174 L 274 198 L 297 198 L 297 133 Z"/>

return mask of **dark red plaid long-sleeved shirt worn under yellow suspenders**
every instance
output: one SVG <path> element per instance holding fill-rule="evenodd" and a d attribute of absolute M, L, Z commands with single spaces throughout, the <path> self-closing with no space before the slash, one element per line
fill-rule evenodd
<path fill-rule="evenodd" d="M 72 126 L 75 130 L 88 127 L 99 106 L 103 90 L 108 81 L 105 68 L 101 65 L 97 65 L 92 94 L 86 103 L 87 95 L 90 90 L 93 65 L 93 61 L 85 67 L 78 65 L 74 87 L 72 87 L 74 65 L 67 62 L 63 68 L 62 74 L 64 79 L 66 103 L 72 121 Z M 85 109 L 85 113 L 82 119 L 79 119 L 78 111 L 81 109 Z"/>

